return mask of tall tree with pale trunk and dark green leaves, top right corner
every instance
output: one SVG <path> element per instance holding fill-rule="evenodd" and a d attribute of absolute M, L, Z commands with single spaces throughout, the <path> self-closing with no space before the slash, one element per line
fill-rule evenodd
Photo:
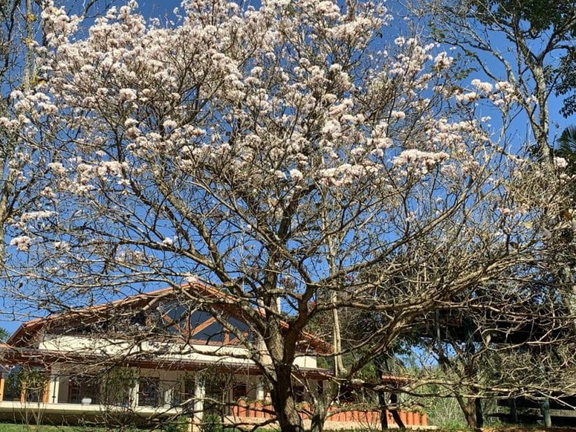
<path fill-rule="evenodd" d="M 576 5 L 573 0 L 432 0 L 420 3 L 431 36 L 461 49 L 482 74 L 505 81 L 528 119 L 538 151 L 547 156 L 548 102 L 568 94 L 573 61 Z M 498 43 L 495 43 L 498 42 Z M 570 112 L 568 96 L 564 112 Z"/>

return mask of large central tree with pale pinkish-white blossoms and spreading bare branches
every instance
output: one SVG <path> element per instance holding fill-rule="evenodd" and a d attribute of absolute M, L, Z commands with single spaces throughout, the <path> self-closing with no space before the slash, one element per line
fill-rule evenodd
<path fill-rule="evenodd" d="M 562 184 L 474 113 L 485 98 L 505 117 L 505 82 L 455 93 L 450 56 L 418 38 L 385 47 L 392 17 L 369 2 L 181 13 L 165 28 L 130 3 L 82 36 L 45 8 L 45 83 L 13 93 L 8 124 L 57 149 L 42 204 L 11 228 L 18 294 L 56 311 L 142 283 L 214 285 L 227 296 L 182 295 L 242 309 L 246 356 L 297 431 L 294 361 L 315 318 L 330 317 L 334 382 L 358 383 L 422 313 L 549 254 Z M 346 309 L 382 325 L 343 346 Z M 304 385 L 320 429 L 338 385 Z"/>

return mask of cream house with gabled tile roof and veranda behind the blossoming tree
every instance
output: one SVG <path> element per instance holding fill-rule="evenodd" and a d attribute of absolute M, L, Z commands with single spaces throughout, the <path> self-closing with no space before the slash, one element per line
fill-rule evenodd
<path fill-rule="evenodd" d="M 189 290 L 219 306 L 212 314 L 193 307 Z M 214 417 L 230 424 L 269 422 L 274 410 L 251 359 L 261 341 L 226 297 L 191 283 L 24 322 L 0 346 L 0 417 L 98 423 L 186 417 L 191 427 Z M 331 350 L 302 333 L 295 391 L 304 418 L 305 385 L 321 388 L 330 378 L 317 356 Z M 404 418 L 425 424 L 417 413 Z M 378 422 L 378 412 L 334 409 L 329 419 L 334 426 Z"/>

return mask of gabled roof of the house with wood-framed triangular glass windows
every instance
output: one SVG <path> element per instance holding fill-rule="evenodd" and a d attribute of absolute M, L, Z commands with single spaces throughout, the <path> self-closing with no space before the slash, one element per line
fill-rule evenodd
<path fill-rule="evenodd" d="M 179 294 L 194 290 L 195 296 L 218 301 L 226 300 L 227 311 L 218 315 L 216 322 L 207 320 L 209 313 L 193 307 L 193 300 L 186 299 L 186 305 L 176 301 Z M 175 302 L 176 301 L 176 302 Z M 188 303 L 188 302 L 191 303 Z M 187 340 L 204 341 L 203 343 L 239 343 L 237 336 L 253 335 L 249 326 L 242 322 L 242 311 L 233 306 L 235 299 L 219 288 L 195 282 L 182 285 L 178 289 L 165 288 L 153 292 L 142 292 L 139 295 L 126 297 L 107 304 L 78 308 L 66 313 L 50 315 L 46 318 L 36 318 L 24 322 L 10 336 L 7 343 L 13 346 L 30 347 L 39 341 L 41 334 L 109 334 L 128 336 L 131 332 L 138 334 L 148 329 L 155 332 L 158 338 L 161 334 L 180 334 Z M 163 305 L 163 306 L 162 306 Z M 195 312 L 195 315 L 193 315 Z M 202 315 L 207 314 L 207 315 Z M 168 317 L 165 319 L 161 317 Z M 222 322 L 225 325 L 222 325 Z M 177 325 L 175 325 L 177 324 Z M 287 322 L 281 322 L 288 329 Z M 203 327 L 202 327 L 203 326 Z M 195 339 L 193 338 L 195 337 Z M 332 352 L 332 345 L 322 338 L 302 332 L 300 350 L 302 352 L 317 351 Z M 36 342 L 35 342 L 36 341 Z"/>

